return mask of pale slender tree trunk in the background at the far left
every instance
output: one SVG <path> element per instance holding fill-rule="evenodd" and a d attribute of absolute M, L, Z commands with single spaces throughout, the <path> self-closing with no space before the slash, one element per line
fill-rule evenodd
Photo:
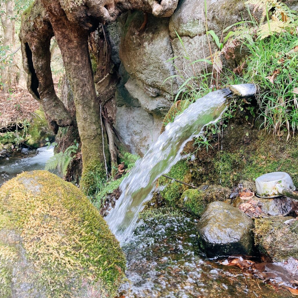
<path fill-rule="evenodd" d="M 14 1 L 7 0 L 3 40 L 3 46 L 7 48 L 7 54 L 13 52 L 13 44 L 15 43 L 15 21 L 13 19 L 13 8 Z M 3 84 L 3 91 L 8 93 L 12 77 L 12 63 L 4 60 L 3 67 L 4 69 L 1 74 L 1 81 Z"/>

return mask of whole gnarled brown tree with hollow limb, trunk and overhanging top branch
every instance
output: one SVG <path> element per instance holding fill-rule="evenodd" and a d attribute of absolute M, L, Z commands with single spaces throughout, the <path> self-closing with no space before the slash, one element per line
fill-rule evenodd
<path fill-rule="evenodd" d="M 96 78 L 98 100 L 89 56 L 88 36 L 100 23 L 114 21 L 125 10 L 139 9 L 156 16 L 168 17 L 176 9 L 178 0 L 78 2 L 80 4 L 70 0 L 35 0 L 22 16 L 20 39 L 24 69 L 28 73 L 28 90 L 36 99 L 41 100 L 49 122 L 57 131 L 58 126 L 69 125 L 71 117 L 56 96 L 53 87 L 49 45 L 55 34 L 74 94 L 83 159 L 80 184 L 92 192 L 95 187 L 94 176 L 105 176 L 105 163 L 108 160 L 103 148 L 106 136 L 99 107 L 101 104 L 104 106 L 113 96 L 117 74 L 110 63 L 108 44 L 100 38 Z M 104 34 L 104 31 L 102 33 Z M 113 132 L 108 122 L 106 125 L 109 142 L 112 142 Z M 114 163 L 117 157 L 113 145 L 114 141 L 110 145 Z"/>

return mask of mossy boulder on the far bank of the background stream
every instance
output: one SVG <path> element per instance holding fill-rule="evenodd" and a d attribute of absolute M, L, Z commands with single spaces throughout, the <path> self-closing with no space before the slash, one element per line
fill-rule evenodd
<path fill-rule="evenodd" d="M 34 112 L 35 119 L 30 122 L 28 128 L 28 138 L 26 145 L 32 148 L 43 147 L 46 143 L 46 138 L 52 140 L 54 133 L 49 128 L 49 124 L 44 116 L 44 111 L 40 108 Z"/>

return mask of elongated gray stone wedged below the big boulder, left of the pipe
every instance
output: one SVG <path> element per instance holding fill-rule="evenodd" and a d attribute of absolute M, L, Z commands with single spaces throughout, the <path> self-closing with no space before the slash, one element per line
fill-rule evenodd
<path fill-rule="evenodd" d="M 162 96 L 151 97 L 146 94 L 136 79 L 129 79 L 125 84 L 125 88 L 132 97 L 139 101 L 142 108 L 148 113 L 164 116 L 172 106 L 170 99 Z"/>

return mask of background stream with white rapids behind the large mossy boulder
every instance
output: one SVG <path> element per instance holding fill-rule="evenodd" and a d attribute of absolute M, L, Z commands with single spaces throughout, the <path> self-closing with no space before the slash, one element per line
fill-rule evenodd
<path fill-rule="evenodd" d="M 0 159 L 0 185 L 25 171 L 44 170 L 46 161 L 54 155 L 54 147 L 27 149 Z"/>

